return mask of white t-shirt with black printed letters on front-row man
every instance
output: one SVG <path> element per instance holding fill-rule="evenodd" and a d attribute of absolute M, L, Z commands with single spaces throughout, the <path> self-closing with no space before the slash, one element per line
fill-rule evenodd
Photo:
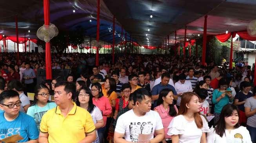
<path fill-rule="evenodd" d="M 138 142 L 139 134 L 151 134 L 153 139 L 154 130 L 160 129 L 163 129 L 163 124 L 156 111 L 150 110 L 139 117 L 129 110 L 118 118 L 115 132 L 124 134 L 126 141 Z"/>

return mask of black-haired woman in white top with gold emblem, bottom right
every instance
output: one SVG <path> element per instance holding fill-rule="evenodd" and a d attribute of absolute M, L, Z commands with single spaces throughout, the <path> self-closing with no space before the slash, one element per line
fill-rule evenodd
<path fill-rule="evenodd" d="M 252 143 L 246 127 L 240 126 L 238 108 L 227 104 L 222 108 L 220 120 L 207 133 L 207 143 Z"/>

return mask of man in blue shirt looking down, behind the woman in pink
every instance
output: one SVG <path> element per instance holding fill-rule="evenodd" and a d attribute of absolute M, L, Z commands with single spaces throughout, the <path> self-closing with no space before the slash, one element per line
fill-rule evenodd
<path fill-rule="evenodd" d="M 176 93 L 175 88 L 173 86 L 171 86 L 170 84 L 168 84 L 169 80 L 170 80 L 170 74 L 167 72 L 163 73 L 161 76 L 160 84 L 156 84 L 156 86 L 154 86 L 151 91 L 153 101 L 158 99 L 160 91 L 162 91 L 162 89 L 165 89 L 165 88 L 171 89 L 173 91 L 173 94 L 177 98 L 177 96 L 176 96 L 177 93 Z M 156 107 L 156 102 L 154 102 L 154 107 Z"/>

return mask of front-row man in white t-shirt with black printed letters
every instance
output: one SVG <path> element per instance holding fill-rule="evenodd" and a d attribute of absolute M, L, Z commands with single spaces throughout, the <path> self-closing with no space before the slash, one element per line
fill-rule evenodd
<path fill-rule="evenodd" d="M 137 89 L 133 96 L 134 108 L 122 114 L 116 123 L 115 143 L 159 143 L 164 138 L 162 120 L 151 109 L 151 95 L 144 88 Z M 140 134 L 147 134 L 148 139 L 139 140 Z M 154 138 L 155 135 L 155 138 Z M 123 137 L 125 137 L 123 139 Z"/>

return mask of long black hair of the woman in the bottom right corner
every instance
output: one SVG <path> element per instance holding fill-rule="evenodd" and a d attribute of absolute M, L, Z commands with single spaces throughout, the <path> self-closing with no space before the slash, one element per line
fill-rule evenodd
<path fill-rule="evenodd" d="M 238 117 L 239 117 L 239 112 L 238 112 L 238 107 L 234 104 L 227 104 L 222 108 L 222 112 L 220 113 L 220 119 L 218 120 L 216 126 L 215 126 L 215 132 L 218 134 L 220 137 L 223 136 L 225 133 L 226 129 L 226 123 L 225 123 L 225 117 L 232 116 L 234 111 L 237 111 Z M 235 129 L 240 127 L 239 125 L 239 120 L 238 123 L 234 126 Z"/>

